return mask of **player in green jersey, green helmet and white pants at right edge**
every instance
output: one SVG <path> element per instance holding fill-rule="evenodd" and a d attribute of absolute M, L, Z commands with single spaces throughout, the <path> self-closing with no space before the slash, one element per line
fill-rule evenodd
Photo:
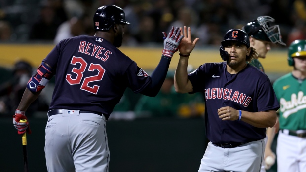
<path fill-rule="evenodd" d="M 290 44 L 288 64 L 292 72 L 273 84 L 280 103 L 277 172 L 306 172 L 306 40 Z"/>

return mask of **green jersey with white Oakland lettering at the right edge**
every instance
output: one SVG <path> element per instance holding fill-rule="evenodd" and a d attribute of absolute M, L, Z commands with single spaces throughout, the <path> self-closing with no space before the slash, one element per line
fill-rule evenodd
<path fill-rule="evenodd" d="M 280 103 L 279 128 L 306 130 L 306 79 L 288 73 L 277 79 L 273 88 Z"/>

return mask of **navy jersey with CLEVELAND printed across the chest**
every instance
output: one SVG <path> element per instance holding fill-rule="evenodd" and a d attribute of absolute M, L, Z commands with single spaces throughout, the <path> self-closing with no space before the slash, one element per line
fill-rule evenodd
<path fill-rule="evenodd" d="M 260 112 L 277 110 L 279 103 L 268 76 L 247 65 L 237 74 L 226 70 L 226 62 L 206 63 L 190 73 L 193 92 L 205 98 L 207 138 L 213 143 L 249 142 L 266 137 L 266 128 L 243 121 L 222 121 L 218 109 L 230 106 L 236 110 Z"/>

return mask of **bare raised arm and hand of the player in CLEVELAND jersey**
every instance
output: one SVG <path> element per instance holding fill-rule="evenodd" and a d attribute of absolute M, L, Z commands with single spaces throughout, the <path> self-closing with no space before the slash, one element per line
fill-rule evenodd
<path fill-rule="evenodd" d="M 180 30 L 181 35 L 183 35 L 182 28 L 180 28 Z M 184 26 L 184 37 L 179 45 L 180 59 L 174 75 L 174 87 L 176 92 L 188 93 L 193 91 L 192 84 L 188 79 L 187 65 L 189 55 L 198 40 L 199 38 L 196 38 L 191 42 L 191 29 L 188 27 L 187 32 L 187 28 Z"/>

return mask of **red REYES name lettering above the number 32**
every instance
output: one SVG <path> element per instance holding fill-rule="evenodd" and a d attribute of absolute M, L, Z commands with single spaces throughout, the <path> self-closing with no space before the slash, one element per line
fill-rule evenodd
<path fill-rule="evenodd" d="M 107 50 L 103 54 L 104 57 L 101 57 L 100 54 L 103 53 L 102 51 L 105 51 L 105 48 L 98 46 L 96 44 L 87 43 L 86 41 L 80 41 L 80 44 L 78 47 L 78 52 L 84 53 L 87 55 L 91 55 L 92 57 L 106 61 L 109 58 L 109 54 L 112 54 L 112 52 Z"/>

